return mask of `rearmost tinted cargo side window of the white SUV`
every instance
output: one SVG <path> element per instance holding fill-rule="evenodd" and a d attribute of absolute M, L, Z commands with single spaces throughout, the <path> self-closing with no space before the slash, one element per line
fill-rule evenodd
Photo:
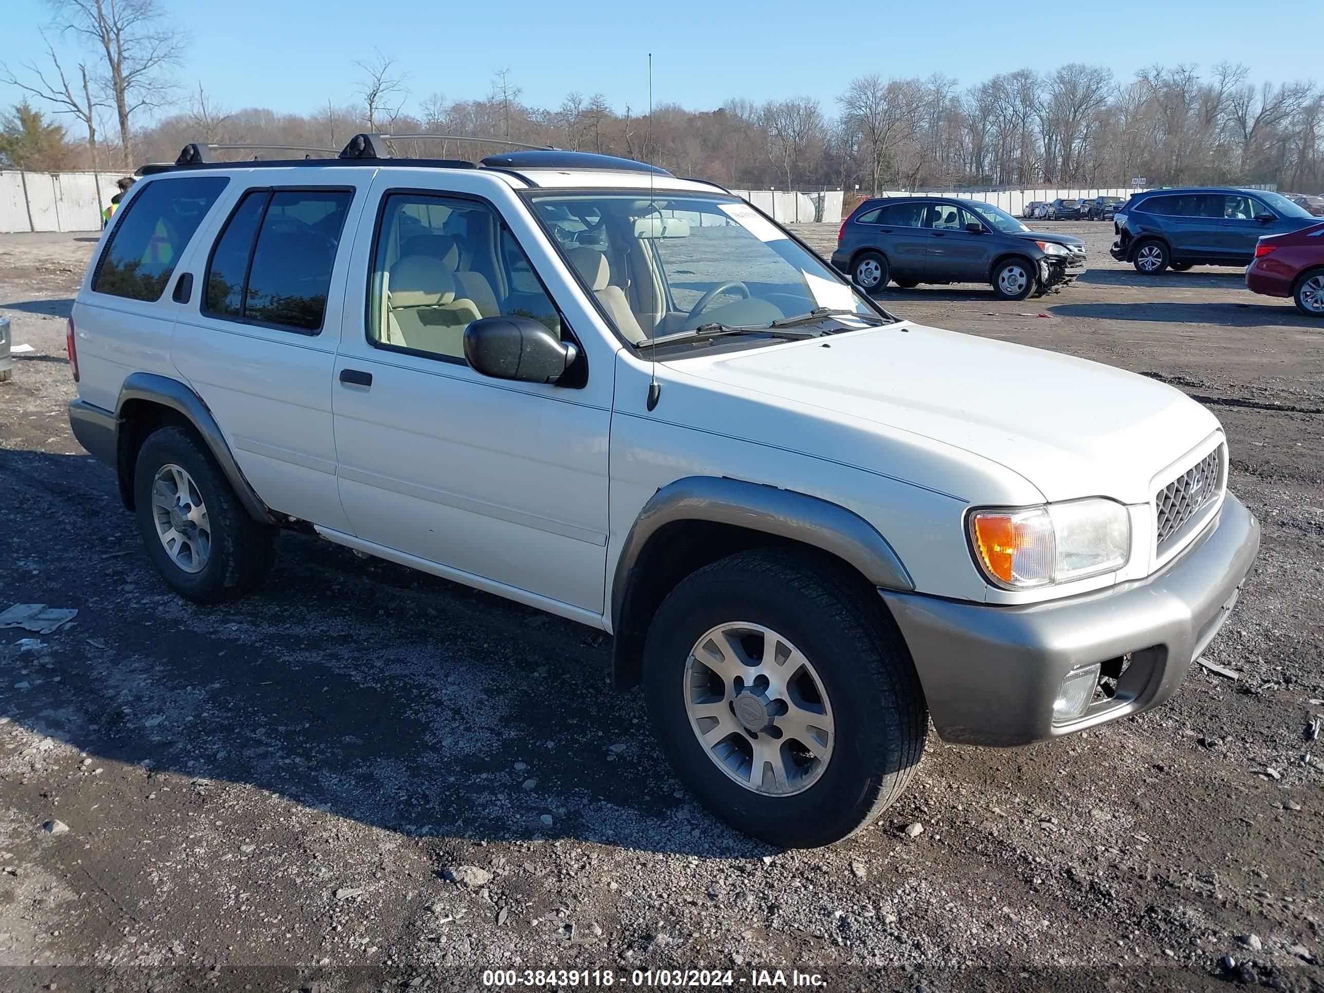
<path fill-rule="evenodd" d="M 225 176 L 147 183 L 111 232 L 91 289 L 131 301 L 160 299 L 189 238 L 228 183 Z"/>

